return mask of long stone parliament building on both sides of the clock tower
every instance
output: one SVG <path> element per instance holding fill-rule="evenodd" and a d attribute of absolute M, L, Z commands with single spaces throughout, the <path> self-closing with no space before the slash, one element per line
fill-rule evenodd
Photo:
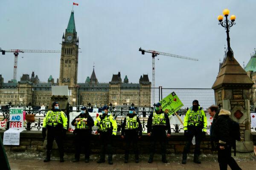
<path fill-rule="evenodd" d="M 34 72 L 32 73 L 32 75 Z M 109 83 L 100 83 L 96 78 L 93 69 L 93 76 L 87 79 L 85 83 L 78 83 L 79 86 L 79 105 L 88 105 L 102 107 L 103 105 L 131 105 L 150 107 L 151 106 L 151 82 L 148 75 L 141 76 L 139 83 L 128 83 L 128 77 L 125 76 L 124 81 L 121 79 L 120 72 L 113 74 L 118 77 L 116 82 L 112 77 Z M 33 77 L 33 76 L 32 76 Z M 48 82 L 38 82 L 29 78 L 28 74 L 23 74 L 17 83 L 1 83 L 0 84 L 0 105 L 24 106 L 32 103 L 32 106 L 49 106 L 52 96 L 52 86 L 58 85 L 50 75 Z M 38 77 L 38 76 L 36 76 Z M 39 79 L 38 79 L 39 80 Z M 76 105 L 72 99 L 76 99 L 77 88 L 70 88 L 72 96 L 69 96 L 70 105 Z"/>

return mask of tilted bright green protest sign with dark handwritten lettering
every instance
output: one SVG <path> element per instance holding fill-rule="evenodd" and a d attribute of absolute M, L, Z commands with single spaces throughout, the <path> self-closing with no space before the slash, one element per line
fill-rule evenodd
<path fill-rule="evenodd" d="M 175 92 L 172 92 L 164 99 L 160 101 L 162 109 L 168 116 L 172 115 L 174 112 L 177 112 L 182 106 L 183 103 L 180 101 Z"/>

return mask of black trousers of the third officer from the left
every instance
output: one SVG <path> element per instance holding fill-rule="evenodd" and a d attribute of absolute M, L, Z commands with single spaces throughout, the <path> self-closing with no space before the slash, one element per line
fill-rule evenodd
<path fill-rule="evenodd" d="M 99 133 L 99 141 L 100 141 L 100 158 L 105 159 L 105 153 L 107 151 L 108 155 L 113 154 L 112 150 L 112 131 L 107 131 L 107 132 L 100 132 Z"/>

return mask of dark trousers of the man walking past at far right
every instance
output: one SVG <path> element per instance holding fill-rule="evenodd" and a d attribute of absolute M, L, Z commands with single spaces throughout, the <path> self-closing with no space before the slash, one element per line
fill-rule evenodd
<path fill-rule="evenodd" d="M 225 146 L 224 150 L 218 147 L 218 163 L 220 170 L 227 170 L 227 165 L 231 170 L 241 170 L 235 159 L 231 156 L 231 146 Z"/>

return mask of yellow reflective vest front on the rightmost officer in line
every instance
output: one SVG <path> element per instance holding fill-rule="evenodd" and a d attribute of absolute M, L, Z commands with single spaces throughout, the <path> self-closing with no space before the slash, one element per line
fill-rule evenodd
<path fill-rule="evenodd" d="M 193 111 L 189 109 L 189 121 L 188 125 L 195 125 L 198 126 L 199 124 L 202 125 L 204 122 L 204 116 L 202 115 L 202 108 L 199 108 L 198 111 Z"/>

